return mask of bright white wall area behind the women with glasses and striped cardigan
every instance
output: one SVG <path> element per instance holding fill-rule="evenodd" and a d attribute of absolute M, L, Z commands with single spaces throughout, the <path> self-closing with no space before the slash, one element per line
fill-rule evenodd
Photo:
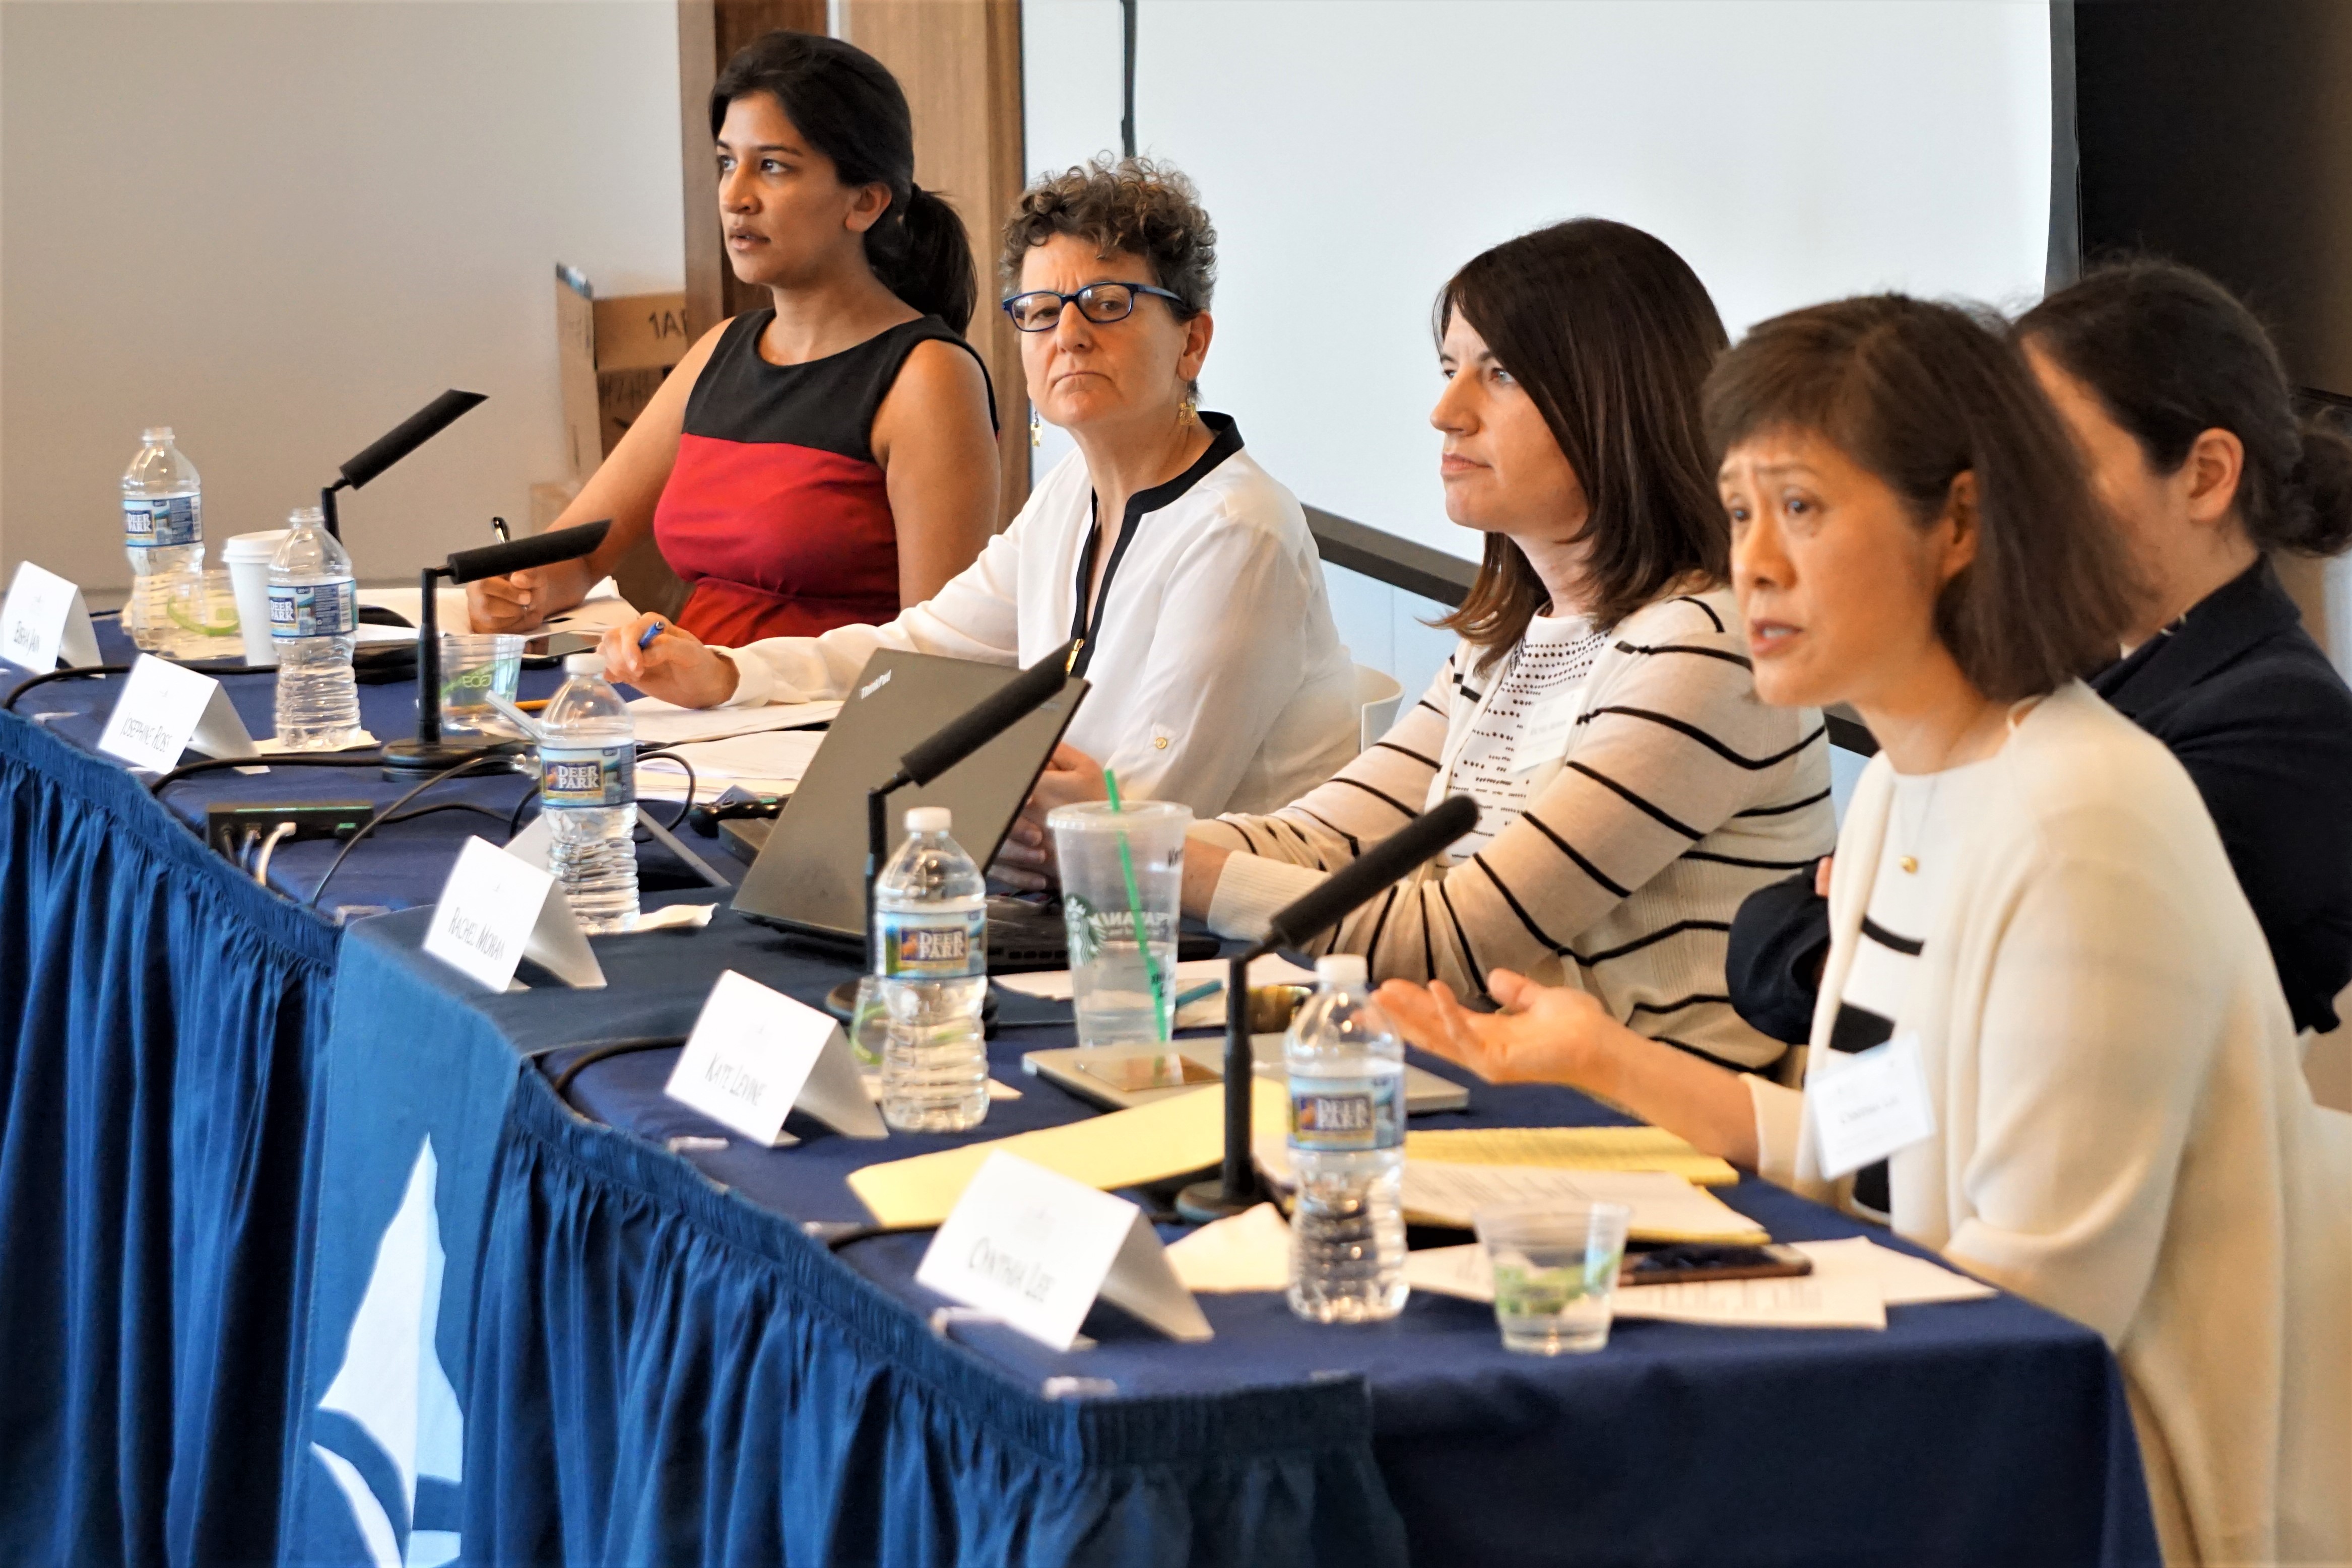
<path fill-rule="evenodd" d="M 1028 165 L 1115 150 L 1117 2 L 1025 0 L 1023 49 Z M 2046 0 L 1143 0 L 1136 75 L 1141 150 L 1218 228 L 1204 400 L 1301 501 L 1465 557 L 1430 303 L 1498 240 L 1649 228 L 1733 336 L 1863 289 L 2042 292 Z M 1425 679 L 1428 607 L 1331 578 L 1357 656 Z"/>

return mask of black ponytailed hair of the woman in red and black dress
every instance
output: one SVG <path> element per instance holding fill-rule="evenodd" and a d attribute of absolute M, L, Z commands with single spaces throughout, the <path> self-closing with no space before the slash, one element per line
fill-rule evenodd
<path fill-rule="evenodd" d="M 866 49 L 816 33 L 769 33 L 727 61 L 710 87 L 710 134 L 727 106 L 764 92 L 844 186 L 889 186 L 889 212 L 866 230 L 875 277 L 957 331 L 971 324 L 981 277 L 962 219 L 936 190 L 915 186 L 915 120 L 898 78 Z"/>

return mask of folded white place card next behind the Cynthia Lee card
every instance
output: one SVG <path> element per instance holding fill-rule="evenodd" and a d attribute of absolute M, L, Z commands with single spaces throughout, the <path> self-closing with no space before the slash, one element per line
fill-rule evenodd
<path fill-rule="evenodd" d="M 731 969 L 710 987 L 663 1093 L 762 1147 L 790 1143 L 783 1119 L 795 1105 L 849 1138 L 889 1138 L 842 1025 Z"/>

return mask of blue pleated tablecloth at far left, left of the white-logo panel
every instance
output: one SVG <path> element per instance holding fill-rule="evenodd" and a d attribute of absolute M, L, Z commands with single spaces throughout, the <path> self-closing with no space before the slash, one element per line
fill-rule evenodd
<path fill-rule="evenodd" d="M 106 658 L 129 661 L 111 618 Z M 21 672 L 0 670 L 0 691 Z M 543 693 L 555 672 L 524 672 Z M 360 844 L 325 917 L 188 830 L 219 799 L 390 802 L 374 769 L 188 778 L 169 811 L 89 755 L 122 677 L 0 715 L 0 1563 L 261 1563 L 278 1549 L 287 1389 L 308 1295 L 313 1058 L 346 907 L 428 903 L 515 776 Z M 223 689 L 273 733 L 268 675 Z M 379 736 L 414 682 L 362 686 Z M 306 898 L 332 844 L 270 865 Z"/>

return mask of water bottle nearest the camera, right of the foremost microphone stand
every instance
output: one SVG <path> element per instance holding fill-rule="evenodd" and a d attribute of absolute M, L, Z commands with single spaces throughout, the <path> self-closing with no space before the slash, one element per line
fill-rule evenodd
<path fill-rule="evenodd" d="M 1369 1324 L 1404 1309 L 1404 1041 L 1364 959 L 1315 961 L 1282 1041 L 1291 1088 L 1291 1312 Z"/>

